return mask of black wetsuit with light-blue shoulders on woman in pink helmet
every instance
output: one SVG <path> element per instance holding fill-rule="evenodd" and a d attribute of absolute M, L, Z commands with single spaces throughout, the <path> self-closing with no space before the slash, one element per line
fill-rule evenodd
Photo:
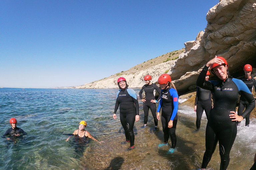
<path fill-rule="evenodd" d="M 120 121 L 124 128 L 126 141 L 130 140 L 130 146 L 134 145 L 133 125 L 135 116 L 139 115 L 139 102 L 133 89 L 118 90 L 114 114 L 120 105 Z"/>

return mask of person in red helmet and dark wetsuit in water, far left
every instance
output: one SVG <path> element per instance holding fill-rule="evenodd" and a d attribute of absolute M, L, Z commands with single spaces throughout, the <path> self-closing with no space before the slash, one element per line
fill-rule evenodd
<path fill-rule="evenodd" d="M 9 128 L 8 130 L 6 130 L 6 132 L 2 135 L 2 138 L 5 138 L 6 136 L 21 136 L 21 135 L 26 135 L 27 133 L 25 131 L 23 131 L 21 128 L 17 127 L 17 120 L 15 118 L 11 118 L 10 119 L 10 125 L 11 128 Z M 10 139 L 10 137 L 7 137 L 6 139 Z"/>

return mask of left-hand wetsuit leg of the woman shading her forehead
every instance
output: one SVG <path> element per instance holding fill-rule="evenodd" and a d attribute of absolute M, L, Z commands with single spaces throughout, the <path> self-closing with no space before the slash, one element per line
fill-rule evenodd
<path fill-rule="evenodd" d="M 215 125 L 210 125 L 207 123 L 205 132 L 205 153 L 203 157 L 203 162 L 201 168 L 206 168 L 208 163 L 212 158 L 212 154 L 215 151 L 216 145 L 218 143 L 218 136 L 215 133 Z"/>

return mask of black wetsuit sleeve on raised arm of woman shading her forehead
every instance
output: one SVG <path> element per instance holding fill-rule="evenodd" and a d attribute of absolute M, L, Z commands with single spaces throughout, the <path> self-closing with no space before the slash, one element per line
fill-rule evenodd
<path fill-rule="evenodd" d="M 205 81 L 205 76 L 208 71 L 208 68 L 209 67 L 204 66 L 204 68 L 202 69 L 201 73 L 199 74 L 196 80 L 196 85 L 198 87 L 201 87 L 202 89 L 213 91 L 214 84 L 212 83 L 212 81 Z"/>

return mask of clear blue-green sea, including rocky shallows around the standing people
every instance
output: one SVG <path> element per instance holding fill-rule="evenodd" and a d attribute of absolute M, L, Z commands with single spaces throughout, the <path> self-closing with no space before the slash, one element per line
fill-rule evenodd
<path fill-rule="evenodd" d="M 161 121 L 154 130 L 154 121 L 149 113 L 147 128 L 143 123 L 142 102 L 140 120 L 135 123 L 135 148 L 125 151 L 125 140 L 119 114 L 113 119 L 118 89 L 20 89 L 0 88 L 0 134 L 10 128 L 9 120 L 17 119 L 17 127 L 28 133 L 23 137 L 7 140 L 0 138 L 0 169 L 175 169 L 199 168 L 205 151 L 206 116 L 202 129 L 195 130 L 196 115 L 193 109 L 179 107 L 177 150 L 169 154 L 170 146 L 158 147 L 163 142 Z M 134 89 L 138 94 L 140 89 Z M 99 141 L 79 144 L 73 133 L 80 121 L 87 122 L 86 130 Z M 228 169 L 250 169 L 256 152 L 256 121 L 250 127 L 238 127 L 238 134 L 231 150 Z M 170 142 L 170 141 L 169 141 Z M 219 169 L 218 146 L 208 165 Z"/>

